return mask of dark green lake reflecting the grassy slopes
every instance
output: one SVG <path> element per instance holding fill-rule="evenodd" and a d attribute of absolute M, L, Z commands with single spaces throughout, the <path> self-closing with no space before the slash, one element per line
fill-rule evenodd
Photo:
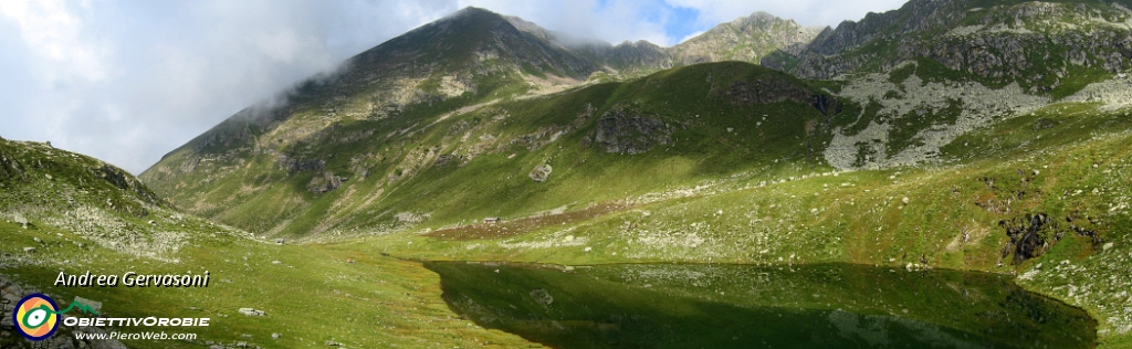
<path fill-rule="evenodd" d="M 455 312 L 555 348 L 1091 348 L 1009 276 L 854 264 L 427 262 Z"/>

